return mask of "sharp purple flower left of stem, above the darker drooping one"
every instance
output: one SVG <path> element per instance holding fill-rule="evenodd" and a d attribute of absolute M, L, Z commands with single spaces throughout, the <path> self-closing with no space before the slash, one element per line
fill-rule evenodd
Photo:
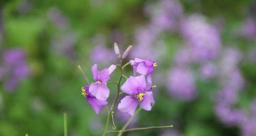
<path fill-rule="evenodd" d="M 89 92 L 100 101 L 105 101 L 110 95 L 110 89 L 106 86 L 106 81 L 110 79 L 110 74 L 116 69 L 116 65 L 111 65 L 109 69 L 97 70 L 97 64 L 92 66 L 93 79 Z"/>

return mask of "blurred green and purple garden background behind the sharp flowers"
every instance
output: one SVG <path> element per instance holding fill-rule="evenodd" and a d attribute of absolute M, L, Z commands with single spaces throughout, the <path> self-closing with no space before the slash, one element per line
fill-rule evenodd
<path fill-rule="evenodd" d="M 106 110 L 81 95 L 77 65 L 93 81 L 94 63 L 117 63 L 114 42 L 158 63 L 156 104 L 130 127 L 174 125 L 124 135 L 256 135 L 255 19 L 252 0 L 2 0 L 0 135 L 63 135 L 63 112 L 68 135 L 101 135 Z M 116 112 L 118 128 L 128 118 Z"/>

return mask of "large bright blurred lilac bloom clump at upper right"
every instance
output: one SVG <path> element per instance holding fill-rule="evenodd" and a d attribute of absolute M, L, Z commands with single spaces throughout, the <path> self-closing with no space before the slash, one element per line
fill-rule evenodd
<path fill-rule="evenodd" d="M 181 33 L 189 46 L 196 62 L 215 59 L 221 48 L 218 29 L 206 22 L 202 15 L 191 15 L 181 26 Z"/>

